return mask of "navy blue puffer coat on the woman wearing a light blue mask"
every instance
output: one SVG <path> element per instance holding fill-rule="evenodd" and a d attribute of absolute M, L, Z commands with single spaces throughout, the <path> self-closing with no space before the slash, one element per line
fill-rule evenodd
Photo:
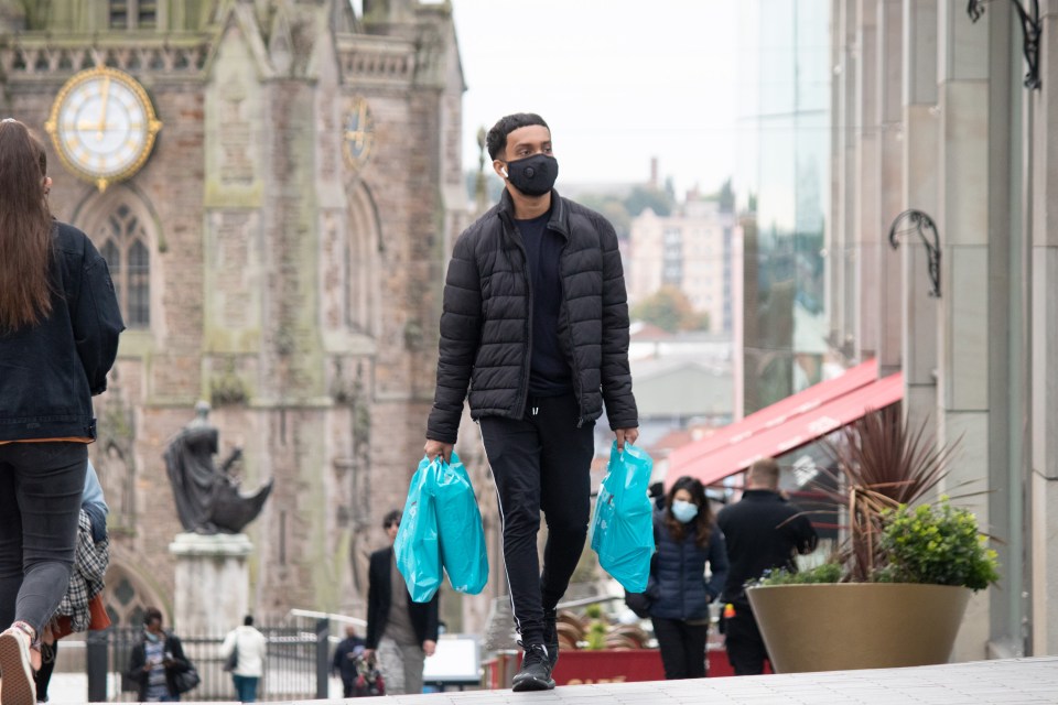
<path fill-rule="evenodd" d="M 698 621 L 709 619 L 709 604 L 716 599 L 727 579 L 727 549 L 716 524 L 709 545 L 694 544 L 690 531 L 677 542 L 665 525 L 663 510 L 654 512 L 654 536 L 658 552 L 650 564 L 647 592 L 654 598 L 650 616 Z M 705 563 L 712 576 L 705 582 Z"/>

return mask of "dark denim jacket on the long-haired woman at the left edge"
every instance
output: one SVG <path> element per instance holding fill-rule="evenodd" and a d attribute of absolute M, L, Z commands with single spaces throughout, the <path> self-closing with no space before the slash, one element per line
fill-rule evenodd
<path fill-rule="evenodd" d="M 96 437 L 91 397 L 125 329 L 107 262 L 88 237 L 55 224 L 52 312 L 0 334 L 0 441 Z"/>

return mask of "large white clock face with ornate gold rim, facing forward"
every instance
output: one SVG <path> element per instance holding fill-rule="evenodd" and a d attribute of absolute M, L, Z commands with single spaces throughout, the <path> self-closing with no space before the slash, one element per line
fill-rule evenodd
<path fill-rule="evenodd" d="M 44 127 L 66 167 L 102 191 L 139 171 L 162 123 L 143 86 L 101 66 L 66 82 Z"/>

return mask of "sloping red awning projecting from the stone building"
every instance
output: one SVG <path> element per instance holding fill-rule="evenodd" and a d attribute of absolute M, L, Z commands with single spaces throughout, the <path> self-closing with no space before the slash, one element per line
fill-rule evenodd
<path fill-rule="evenodd" d="M 819 384 L 816 387 L 819 387 Z M 806 392 L 807 391 L 810 390 L 806 390 Z M 803 394 L 805 392 L 800 393 Z M 795 397 L 797 397 L 797 394 L 795 394 Z M 714 485 L 725 477 L 746 469 L 755 460 L 764 457 L 777 457 L 784 453 L 789 453 L 790 451 L 808 445 L 835 429 L 840 429 L 863 417 L 871 411 L 883 409 L 899 401 L 903 397 L 904 376 L 897 372 L 885 379 L 875 380 L 868 384 L 849 390 L 846 393 L 831 398 L 827 402 L 816 405 L 808 411 L 788 414 L 782 422 L 767 429 L 762 430 L 754 424 L 753 433 L 748 436 L 745 436 L 742 431 L 736 430 L 735 434 L 731 437 L 741 436 L 743 440 L 739 442 L 727 442 L 723 446 L 704 455 L 697 454 L 689 463 L 682 462 L 677 464 L 673 460 L 673 458 L 677 457 L 677 453 L 673 452 L 672 455 L 669 456 L 668 481 L 672 481 L 683 475 L 690 475 L 700 479 L 703 485 Z M 780 403 L 786 403 L 790 401 L 790 399 Z M 754 414 L 754 416 L 756 414 Z M 742 421 L 731 425 L 738 426 L 751 419 L 752 416 L 746 416 Z M 681 448 L 681 451 L 682 449 L 683 448 Z"/>

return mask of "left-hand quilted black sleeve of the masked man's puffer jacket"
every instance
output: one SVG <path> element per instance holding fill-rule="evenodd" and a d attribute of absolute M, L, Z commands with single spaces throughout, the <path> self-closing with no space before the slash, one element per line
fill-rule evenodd
<path fill-rule="evenodd" d="M 455 443 L 482 328 L 482 284 L 471 231 L 455 243 L 444 282 L 438 384 L 427 437 Z"/>

